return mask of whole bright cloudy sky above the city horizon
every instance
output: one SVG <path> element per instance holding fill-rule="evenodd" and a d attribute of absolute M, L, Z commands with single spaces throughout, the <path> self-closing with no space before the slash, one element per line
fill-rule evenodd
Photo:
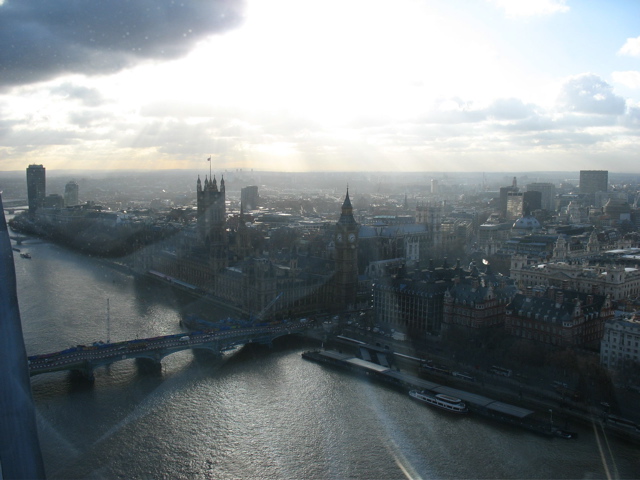
<path fill-rule="evenodd" d="M 0 0 L 0 171 L 640 172 L 637 0 Z"/>

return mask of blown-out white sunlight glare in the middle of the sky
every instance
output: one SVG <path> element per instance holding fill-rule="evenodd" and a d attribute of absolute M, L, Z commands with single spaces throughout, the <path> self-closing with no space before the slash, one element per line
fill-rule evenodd
<path fill-rule="evenodd" d="M 251 2 L 238 30 L 185 59 L 139 67 L 120 91 L 131 104 L 163 98 L 204 113 L 286 110 L 339 126 L 362 116 L 415 116 L 454 92 L 495 91 L 499 79 L 481 73 L 495 71 L 495 62 L 473 32 L 411 0 L 393 8 L 377 0 Z"/>

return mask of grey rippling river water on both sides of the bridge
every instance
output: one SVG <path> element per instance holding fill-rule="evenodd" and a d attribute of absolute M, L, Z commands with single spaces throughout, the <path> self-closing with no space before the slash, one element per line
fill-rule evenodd
<path fill-rule="evenodd" d="M 29 355 L 181 331 L 211 309 L 62 247 L 14 252 Z M 107 299 L 110 316 L 107 322 Z M 226 316 L 225 312 L 212 315 Z M 180 352 L 160 374 L 126 360 L 32 378 L 49 478 L 638 478 L 640 448 L 578 427 L 539 437 L 453 417 L 348 372 L 307 362 L 298 340 L 220 360 Z"/>

